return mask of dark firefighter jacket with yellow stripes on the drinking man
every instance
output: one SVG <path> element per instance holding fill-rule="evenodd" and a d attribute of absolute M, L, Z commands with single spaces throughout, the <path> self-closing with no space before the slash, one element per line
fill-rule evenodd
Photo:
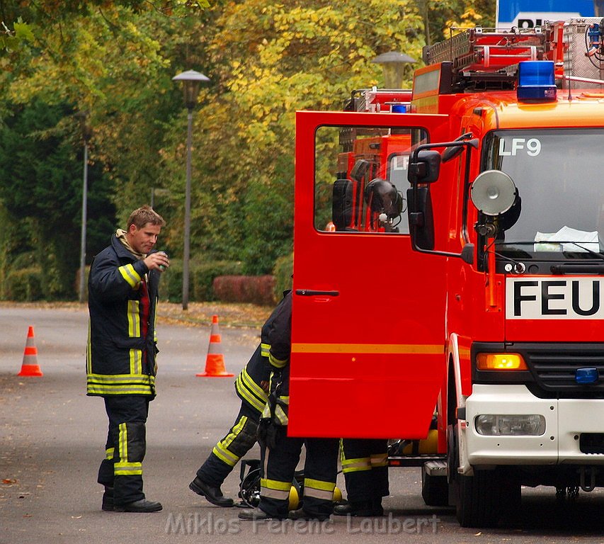
<path fill-rule="evenodd" d="M 113 236 L 89 276 L 87 395 L 155 395 L 159 272 Z"/>

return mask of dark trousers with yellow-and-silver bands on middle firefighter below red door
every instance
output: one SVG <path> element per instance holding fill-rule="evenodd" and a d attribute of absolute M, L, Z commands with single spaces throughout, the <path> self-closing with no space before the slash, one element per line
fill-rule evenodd
<path fill-rule="evenodd" d="M 338 474 L 338 438 L 294 438 L 280 427 L 275 448 L 263 455 L 263 477 L 258 507 L 269 516 L 287 518 L 289 497 L 302 446 L 304 462 L 303 508 L 310 516 L 330 516 L 334 511 L 334 488 Z"/>

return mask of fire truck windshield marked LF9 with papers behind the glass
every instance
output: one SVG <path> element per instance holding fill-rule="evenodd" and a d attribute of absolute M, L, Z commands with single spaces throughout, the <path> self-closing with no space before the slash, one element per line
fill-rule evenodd
<path fill-rule="evenodd" d="M 535 259 L 593 259 L 603 250 L 603 136 L 600 128 L 488 135 L 484 169 L 509 174 L 521 199 L 518 220 L 498 237 L 498 251 Z"/>

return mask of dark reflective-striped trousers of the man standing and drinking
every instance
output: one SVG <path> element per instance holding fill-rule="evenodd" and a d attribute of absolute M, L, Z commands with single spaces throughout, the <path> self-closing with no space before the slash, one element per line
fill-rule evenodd
<path fill-rule="evenodd" d="M 147 448 L 145 424 L 151 399 L 147 395 L 105 397 L 109 431 L 98 483 L 113 488 L 116 506 L 144 499 L 142 460 Z"/>

